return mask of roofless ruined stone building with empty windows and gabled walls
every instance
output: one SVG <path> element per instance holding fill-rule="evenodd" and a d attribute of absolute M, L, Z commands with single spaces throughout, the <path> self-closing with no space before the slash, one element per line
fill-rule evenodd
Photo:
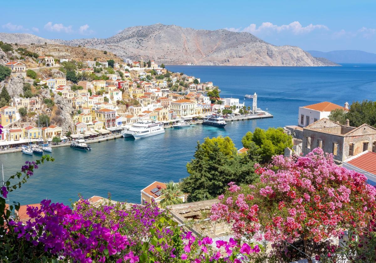
<path fill-rule="evenodd" d="M 303 155 L 320 147 L 342 162 L 363 151 L 376 152 L 376 128 L 367 124 L 356 128 L 323 118 L 303 127 L 302 137 Z"/>

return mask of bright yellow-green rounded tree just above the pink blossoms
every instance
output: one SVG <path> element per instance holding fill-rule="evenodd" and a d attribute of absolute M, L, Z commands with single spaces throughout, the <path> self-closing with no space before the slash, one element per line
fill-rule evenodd
<path fill-rule="evenodd" d="M 253 155 L 259 155 L 261 162 L 267 163 L 274 155 L 284 154 L 286 147 L 293 147 L 292 137 L 284 133 L 283 128 L 256 128 L 248 131 L 241 140 L 244 148 L 252 149 Z"/>

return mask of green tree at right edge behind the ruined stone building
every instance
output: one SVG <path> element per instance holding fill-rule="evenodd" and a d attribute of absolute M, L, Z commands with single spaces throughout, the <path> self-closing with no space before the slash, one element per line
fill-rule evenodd
<path fill-rule="evenodd" d="M 376 101 L 364 100 L 361 103 L 358 101 L 352 103 L 346 117 L 351 126 L 359 127 L 366 123 L 376 127 Z"/>

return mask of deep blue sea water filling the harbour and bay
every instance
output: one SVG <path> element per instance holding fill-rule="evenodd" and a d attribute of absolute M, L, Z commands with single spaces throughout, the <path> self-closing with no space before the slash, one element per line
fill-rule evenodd
<path fill-rule="evenodd" d="M 298 109 L 321 101 L 344 105 L 346 101 L 376 100 L 376 64 L 343 64 L 342 67 L 227 67 L 166 66 L 211 81 L 221 89 L 222 98 L 239 98 L 246 106 L 258 95 L 258 107 L 273 118 L 229 122 L 225 128 L 194 125 L 166 129 L 162 135 L 134 140 L 115 139 L 91 144 L 83 152 L 70 147 L 53 148 L 53 163 L 40 165 L 20 189 L 8 199 L 21 204 L 39 203 L 43 199 L 70 205 L 81 194 L 112 200 L 140 203 L 140 190 L 154 181 L 179 182 L 188 176 L 186 164 L 193 158 L 197 141 L 206 137 L 229 136 L 237 148 L 241 138 L 256 127 L 296 125 Z M 21 169 L 26 160 L 38 156 L 0 154 L 5 178 Z"/>

